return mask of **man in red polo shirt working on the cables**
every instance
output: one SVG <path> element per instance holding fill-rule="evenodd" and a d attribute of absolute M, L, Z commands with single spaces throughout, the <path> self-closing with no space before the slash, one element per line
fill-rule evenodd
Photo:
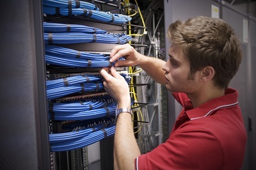
<path fill-rule="evenodd" d="M 167 62 L 143 56 L 129 44 L 113 48 L 115 66 L 140 66 L 165 84 L 184 107 L 170 137 L 141 155 L 134 138 L 129 88 L 115 68 L 102 69 L 104 88 L 120 110 L 116 122 L 115 169 L 241 169 L 246 131 L 236 89 L 228 88 L 241 63 L 232 27 L 221 19 L 195 17 L 169 26 Z"/>

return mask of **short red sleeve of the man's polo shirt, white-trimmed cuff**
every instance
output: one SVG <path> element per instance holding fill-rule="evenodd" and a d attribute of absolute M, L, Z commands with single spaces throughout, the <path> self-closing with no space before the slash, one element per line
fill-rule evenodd
<path fill-rule="evenodd" d="M 175 132 L 166 143 L 140 155 L 135 164 L 137 170 L 221 169 L 223 152 L 216 137 L 207 130 L 185 130 Z"/>

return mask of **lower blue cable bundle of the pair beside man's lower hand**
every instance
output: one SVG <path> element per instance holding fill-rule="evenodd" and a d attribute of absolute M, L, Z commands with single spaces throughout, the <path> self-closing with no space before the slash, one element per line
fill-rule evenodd
<path fill-rule="evenodd" d="M 74 84 L 72 86 L 64 86 L 60 88 L 47 89 L 47 99 L 52 100 L 52 99 L 64 97 L 66 95 L 70 95 L 73 93 L 99 91 L 101 89 L 104 89 L 102 82 L 99 82 L 99 83 L 88 82 L 88 83 Z"/>

